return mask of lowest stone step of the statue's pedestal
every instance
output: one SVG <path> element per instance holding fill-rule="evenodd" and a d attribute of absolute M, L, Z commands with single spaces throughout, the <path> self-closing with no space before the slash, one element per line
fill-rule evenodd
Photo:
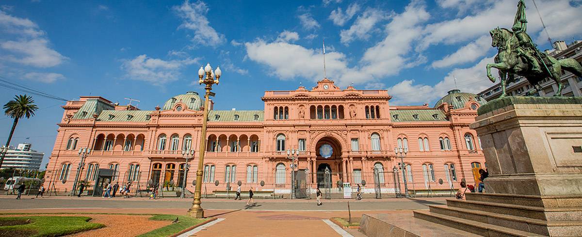
<path fill-rule="evenodd" d="M 462 229 L 463 231 L 471 232 L 473 234 L 481 236 L 517 236 L 517 237 L 530 237 L 530 236 L 544 236 L 539 234 L 534 234 L 527 231 L 520 231 L 517 229 L 501 227 L 499 225 L 492 225 L 480 221 L 467 220 L 464 218 L 447 216 L 438 213 L 432 213 L 428 210 L 417 210 L 414 211 L 414 217 L 420 218 L 422 220 L 434 222 L 441 225 L 446 225 L 448 227 L 453 227 L 456 229 Z"/>

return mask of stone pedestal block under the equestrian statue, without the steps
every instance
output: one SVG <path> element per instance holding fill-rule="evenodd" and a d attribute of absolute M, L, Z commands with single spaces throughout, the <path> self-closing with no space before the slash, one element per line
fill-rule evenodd
<path fill-rule="evenodd" d="M 582 98 L 509 96 L 470 127 L 487 161 L 487 193 L 582 195 Z"/>

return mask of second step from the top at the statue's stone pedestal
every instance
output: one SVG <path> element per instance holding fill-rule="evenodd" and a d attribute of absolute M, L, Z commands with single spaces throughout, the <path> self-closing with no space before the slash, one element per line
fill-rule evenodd
<path fill-rule="evenodd" d="M 457 207 L 460 209 L 487 211 L 489 213 L 526 217 L 544 221 L 579 220 L 580 216 L 582 216 L 581 207 L 549 208 L 457 199 L 447 199 L 446 204 L 449 207 Z"/>

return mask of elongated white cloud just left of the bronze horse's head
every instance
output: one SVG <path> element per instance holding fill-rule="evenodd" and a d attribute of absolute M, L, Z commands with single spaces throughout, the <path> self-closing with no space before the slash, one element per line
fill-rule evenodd
<path fill-rule="evenodd" d="M 461 63 L 474 62 L 485 56 L 491 48 L 491 36 L 483 35 L 475 41 L 462 46 L 456 52 L 445 56 L 445 58 L 432 62 L 433 68 L 449 67 Z"/>

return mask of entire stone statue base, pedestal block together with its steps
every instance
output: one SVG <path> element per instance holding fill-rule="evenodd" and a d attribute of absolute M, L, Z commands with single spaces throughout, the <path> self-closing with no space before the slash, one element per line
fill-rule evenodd
<path fill-rule="evenodd" d="M 414 217 L 483 236 L 580 236 L 582 98 L 508 96 L 470 127 L 487 161 L 485 193 Z"/>

